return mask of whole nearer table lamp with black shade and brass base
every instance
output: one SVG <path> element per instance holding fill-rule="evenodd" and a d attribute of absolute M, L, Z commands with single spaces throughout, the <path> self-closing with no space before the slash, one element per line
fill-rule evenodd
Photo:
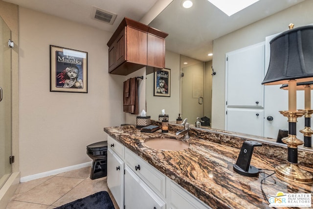
<path fill-rule="evenodd" d="M 270 41 L 268 72 L 263 85 L 288 84 L 289 134 L 282 141 L 288 145 L 288 163 L 276 166 L 276 176 L 283 181 L 312 183 L 313 176 L 298 166 L 298 146 L 303 141 L 296 137 L 297 117 L 305 114 L 296 110 L 296 84 L 313 81 L 313 25 L 293 28 Z"/>

